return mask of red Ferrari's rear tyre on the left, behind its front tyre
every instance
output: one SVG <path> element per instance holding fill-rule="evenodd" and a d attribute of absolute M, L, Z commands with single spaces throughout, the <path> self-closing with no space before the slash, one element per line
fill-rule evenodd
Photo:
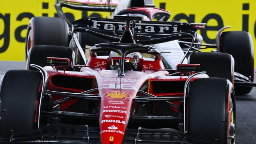
<path fill-rule="evenodd" d="M 29 51 L 27 70 L 38 71 L 38 69 L 31 67 L 30 64 L 36 64 L 40 67 L 51 66 L 47 63 L 47 57 L 53 58 L 68 58 L 70 64 L 73 64 L 75 54 L 69 47 L 54 46 L 54 45 L 35 45 Z M 58 70 L 63 70 L 63 67 L 58 67 Z M 73 71 L 71 67 L 67 67 L 66 71 Z"/>

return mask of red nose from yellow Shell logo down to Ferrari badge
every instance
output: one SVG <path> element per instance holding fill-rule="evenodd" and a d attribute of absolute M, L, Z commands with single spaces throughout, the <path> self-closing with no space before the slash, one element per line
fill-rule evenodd
<path fill-rule="evenodd" d="M 133 91 L 131 91 L 133 93 Z M 132 105 L 131 94 L 105 90 L 100 104 L 100 138 L 102 144 L 121 144 Z"/>

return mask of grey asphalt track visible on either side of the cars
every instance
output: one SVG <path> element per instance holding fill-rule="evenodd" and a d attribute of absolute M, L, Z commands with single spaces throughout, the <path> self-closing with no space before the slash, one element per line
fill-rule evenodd
<path fill-rule="evenodd" d="M 0 79 L 9 70 L 25 69 L 25 62 L 0 61 Z M 237 95 L 236 106 L 236 144 L 256 144 L 256 87 L 247 95 Z"/>

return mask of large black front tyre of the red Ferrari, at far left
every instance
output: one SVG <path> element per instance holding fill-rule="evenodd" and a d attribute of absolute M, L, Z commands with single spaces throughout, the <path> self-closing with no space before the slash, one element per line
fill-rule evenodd
<path fill-rule="evenodd" d="M 2 102 L 0 137 L 8 138 L 12 131 L 31 131 L 36 129 L 36 109 L 39 101 L 40 72 L 11 70 L 4 74 L 0 87 Z"/>

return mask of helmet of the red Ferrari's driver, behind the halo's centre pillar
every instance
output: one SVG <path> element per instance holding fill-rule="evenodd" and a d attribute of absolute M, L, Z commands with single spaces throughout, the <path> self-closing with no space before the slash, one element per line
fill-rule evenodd
<path fill-rule="evenodd" d="M 119 63 L 121 61 L 120 55 L 116 52 L 110 52 L 110 69 L 111 70 L 118 70 Z M 142 55 L 138 52 L 130 53 L 125 58 L 125 71 L 137 71 L 139 59 Z M 116 58 L 116 59 L 114 59 Z"/>

